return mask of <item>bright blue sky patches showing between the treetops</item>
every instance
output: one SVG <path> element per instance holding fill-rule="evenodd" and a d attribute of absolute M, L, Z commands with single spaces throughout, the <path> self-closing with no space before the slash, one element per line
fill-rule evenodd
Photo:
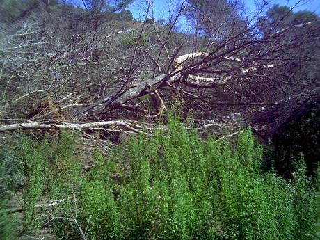
<path fill-rule="evenodd" d="M 153 0 L 154 1 L 154 15 L 156 19 L 168 19 L 169 12 L 170 12 L 170 2 L 173 0 Z M 181 0 L 178 0 L 181 1 Z M 273 4 L 280 4 L 282 6 L 289 6 L 290 8 L 293 7 L 298 0 L 271 0 L 271 6 Z M 74 0 L 74 3 L 79 4 L 82 6 L 81 0 Z M 139 19 L 139 17 L 144 18 L 144 11 L 141 9 L 141 6 L 145 6 L 145 0 L 137 0 L 135 3 L 131 4 L 127 9 L 131 10 L 132 14 L 134 15 L 135 19 Z M 244 0 L 246 8 L 250 11 L 255 10 L 255 0 Z M 314 13 L 320 15 L 320 0 L 303 0 L 301 3 L 296 6 L 294 11 L 298 10 L 310 10 Z"/>

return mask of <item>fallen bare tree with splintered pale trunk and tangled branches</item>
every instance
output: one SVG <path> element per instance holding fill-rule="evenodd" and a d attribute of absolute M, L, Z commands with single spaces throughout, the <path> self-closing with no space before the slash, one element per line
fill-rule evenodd
<path fill-rule="evenodd" d="M 147 8 L 149 12 L 150 8 L 149 4 Z M 181 10 L 182 7 L 179 9 L 176 19 Z M 223 38 L 223 40 L 215 42 L 209 38 L 207 46 L 211 47 L 208 47 L 206 51 L 195 51 L 182 55 L 180 55 L 182 45 L 171 49 L 171 52 L 167 46 L 176 21 L 170 26 L 164 42 L 159 37 L 158 26 L 154 24 L 154 31 L 157 33 L 157 41 L 154 46 L 160 45 L 159 56 L 162 51 L 166 50 L 164 55 L 167 59 L 164 61 L 164 58 L 161 57 L 144 55 L 150 56 L 152 59 L 151 62 L 147 62 L 147 60 L 143 62 L 150 64 L 149 68 L 139 66 L 138 63 L 138 61 L 142 61 L 139 54 L 146 54 L 141 48 L 143 34 L 146 31 L 145 22 L 141 24 L 132 56 L 128 56 L 131 58 L 128 65 L 129 71 L 125 76 L 122 76 L 117 83 L 118 85 L 112 83 L 113 86 L 110 86 L 108 83 L 99 83 L 99 91 L 94 99 L 92 99 L 92 95 L 96 95 L 94 91 L 90 93 L 91 98 L 86 99 L 85 97 L 91 83 L 65 82 L 66 85 L 63 88 L 58 88 L 58 85 L 61 84 L 58 77 L 46 88 L 40 88 L 42 85 L 37 89 L 26 88 L 27 91 L 22 95 L 15 96 L 2 105 L 0 111 L 5 124 L 0 126 L 0 131 L 19 129 L 95 130 L 101 128 L 114 130 L 120 127 L 124 131 L 138 132 L 150 123 L 155 125 L 161 123 L 161 117 L 166 115 L 166 109 L 172 108 L 175 99 L 179 99 L 182 104 L 180 109 L 182 117 L 186 118 L 189 109 L 191 109 L 198 127 L 207 126 L 206 128 L 208 128 L 214 122 L 215 126 L 228 125 L 237 131 L 239 126 L 258 125 L 257 129 L 263 129 L 261 130 L 262 134 L 267 135 L 267 131 L 271 131 L 271 129 L 268 130 L 268 125 L 273 120 L 269 115 L 272 109 L 282 108 L 283 111 L 286 111 L 283 115 L 289 116 L 294 113 L 295 105 L 300 107 L 306 99 L 319 95 L 319 87 L 314 81 L 301 79 L 301 77 L 290 73 L 290 69 L 297 64 L 297 61 L 298 63 L 319 65 L 317 55 L 311 56 L 309 53 L 310 57 L 303 59 L 298 59 L 299 56 L 297 56 L 299 55 L 298 51 L 309 46 L 314 39 L 319 38 L 319 19 L 303 24 L 294 24 L 264 35 L 259 31 L 258 26 L 248 25 L 243 31 L 235 33 L 230 38 Z M 38 46 L 34 45 L 37 42 L 33 40 L 33 35 L 36 36 L 38 31 L 31 31 L 31 29 L 33 29 L 32 26 L 26 25 L 21 31 L 10 37 L 10 39 L 21 39 L 19 46 L 15 47 L 15 41 L 13 41 L 10 47 L 11 50 L 17 51 L 16 55 L 21 54 L 25 57 L 26 55 L 20 51 L 21 48 L 29 49 Z M 115 38 L 130 31 L 137 30 L 116 31 L 109 33 L 106 37 L 107 39 Z M 29 38 L 28 42 L 24 44 L 23 38 L 20 37 L 26 34 Z M 70 45 L 67 54 L 74 56 L 78 51 L 81 51 L 83 46 L 80 45 L 80 42 L 86 38 L 87 36 L 79 40 L 73 39 L 74 42 Z M 95 41 L 99 42 L 99 36 L 96 38 Z M 9 51 L 8 47 L 5 50 Z M 90 54 L 93 54 L 93 51 L 99 53 L 99 50 L 91 47 L 90 50 L 83 51 L 81 56 L 86 56 L 88 51 Z M 61 74 L 68 76 L 67 79 L 70 79 L 75 74 L 74 72 L 89 70 L 90 67 L 105 64 L 96 56 L 97 61 L 87 58 L 76 61 L 76 58 L 70 57 L 69 62 L 63 63 L 65 59 L 69 58 L 67 54 L 63 52 L 63 49 L 55 54 L 49 54 L 51 64 L 61 63 L 61 67 L 53 70 L 58 70 Z M 8 59 L 11 57 L 8 55 Z M 41 59 L 45 58 L 41 57 Z M 39 61 L 39 58 L 35 58 L 33 61 Z M 8 63 L 4 61 L 1 73 L 6 72 L 6 65 Z M 106 65 L 106 69 L 109 66 L 110 64 Z M 141 77 L 139 67 L 141 67 L 141 72 L 148 72 L 147 77 Z M 45 70 L 42 72 L 49 71 L 45 66 Z M 25 74 L 31 75 L 31 72 Z M 48 74 L 47 77 L 49 78 L 50 75 Z M 92 84 L 95 85 L 95 83 Z M 108 86 L 111 90 L 107 91 Z M 48 110 L 46 107 L 47 110 L 42 109 L 37 114 L 31 115 L 29 119 L 20 117 L 14 123 L 10 121 L 12 118 L 15 119 L 15 116 L 10 116 L 8 109 L 10 110 L 17 104 L 24 104 L 23 100 L 30 99 L 31 96 L 38 94 L 46 96 L 49 93 L 55 94 L 55 108 Z M 42 97 L 42 99 L 44 98 Z M 291 101 L 292 99 L 294 100 Z M 288 101 L 291 102 L 293 108 L 283 107 L 284 103 Z M 67 118 L 54 118 L 54 113 L 59 111 L 66 111 Z M 257 117 L 257 115 L 260 116 Z M 268 118 L 269 120 L 265 121 Z M 264 121 L 259 122 L 259 119 Z M 139 124 L 134 122 L 136 120 L 140 121 Z M 142 124 L 141 120 L 145 124 Z M 277 125 L 283 121 L 285 118 L 278 121 Z"/>

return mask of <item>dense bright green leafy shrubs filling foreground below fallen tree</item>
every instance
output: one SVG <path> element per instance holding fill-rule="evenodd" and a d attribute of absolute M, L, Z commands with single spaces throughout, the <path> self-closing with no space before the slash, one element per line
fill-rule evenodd
<path fill-rule="evenodd" d="M 171 117 L 167 131 L 131 137 L 108 157 L 95 150 L 89 169 L 75 139 L 24 137 L 16 148 L 26 232 L 45 223 L 57 239 L 319 237 L 320 168 L 306 177 L 301 156 L 292 180 L 262 173 L 262 146 L 249 130 L 202 141 Z M 35 207 L 42 198 L 60 202 Z"/>

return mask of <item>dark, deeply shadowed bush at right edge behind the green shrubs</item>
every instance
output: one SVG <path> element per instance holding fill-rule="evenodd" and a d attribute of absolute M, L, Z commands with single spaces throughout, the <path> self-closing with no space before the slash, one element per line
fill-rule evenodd
<path fill-rule="evenodd" d="M 272 141 L 273 167 L 286 177 L 291 177 L 294 159 L 303 153 L 307 174 L 311 175 L 320 160 L 320 106 L 314 104 L 304 114 L 283 125 Z"/>

